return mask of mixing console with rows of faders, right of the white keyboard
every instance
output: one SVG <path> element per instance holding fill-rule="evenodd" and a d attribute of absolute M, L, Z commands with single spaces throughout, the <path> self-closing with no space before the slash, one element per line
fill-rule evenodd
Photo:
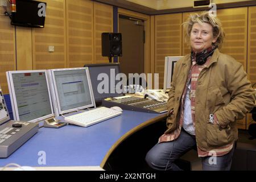
<path fill-rule="evenodd" d="M 122 109 L 141 111 L 146 113 L 164 113 L 167 112 L 166 102 L 150 100 L 134 96 L 110 97 L 102 100 L 102 106 L 119 106 Z"/>

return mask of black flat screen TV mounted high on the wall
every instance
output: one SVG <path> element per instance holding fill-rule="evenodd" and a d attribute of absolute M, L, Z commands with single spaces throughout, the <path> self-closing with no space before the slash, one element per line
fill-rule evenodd
<path fill-rule="evenodd" d="M 24 27 L 44 27 L 46 3 L 16 0 L 16 12 L 11 14 L 11 24 Z"/>

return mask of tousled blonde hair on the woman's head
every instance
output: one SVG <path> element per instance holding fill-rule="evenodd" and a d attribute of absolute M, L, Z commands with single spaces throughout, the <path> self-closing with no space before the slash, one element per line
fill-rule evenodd
<path fill-rule="evenodd" d="M 222 28 L 222 24 L 218 18 L 207 12 L 201 14 L 191 14 L 186 22 L 183 23 L 185 30 L 185 42 L 190 45 L 190 34 L 194 23 L 209 23 L 213 27 L 213 38 L 217 38 L 217 41 L 213 43 L 213 46 L 221 48 L 225 38 L 225 32 Z"/>

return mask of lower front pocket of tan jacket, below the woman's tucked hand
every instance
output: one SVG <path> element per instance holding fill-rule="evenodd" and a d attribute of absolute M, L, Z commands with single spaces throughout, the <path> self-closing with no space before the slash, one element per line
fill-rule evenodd
<path fill-rule="evenodd" d="M 207 123 L 207 144 L 209 147 L 220 147 L 229 144 L 234 137 L 230 127 L 220 129 L 220 125 Z"/>

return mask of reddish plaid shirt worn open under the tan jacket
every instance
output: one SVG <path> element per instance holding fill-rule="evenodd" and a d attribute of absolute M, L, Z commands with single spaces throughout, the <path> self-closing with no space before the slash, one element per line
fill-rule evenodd
<path fill-rule="evenodd" d="M 210 57 L 208 57 L 207 61 L 205 62 L 205 64 L 203 65 L 198 65 L 196 64 L 196 60 L 195 58 L 192 59 L 192 66 L 191 69 L 189 71 L 189 76 L 187 79 L 187 84 L 183 90 L 183 95 L 181 98 L 181 105 L 180 105 L 180 120 L 179 120 L 179 127 L 177 127 L 176 130 L 172 131 L 170 134 L 163 134 L 160 138 L 159 138 L 159 143 L 160 142 L 170 142 L 172 140 L 175 140 L 179 137 L 180 132 L 181 132 L 181 127 L 183 124 L 183 119 L 184 119 L 184 98 L 185 98 L 185 94 L 187 92 L 187 86 L 189 84 L 189 82 L 191 81 L 191 114 L 192 114 L 192 120 L 193 120 L 193 126 L 195 127 L 195 105 L 196 105 L 196 83 L 197 83 L 197 79 L 200 75 L 200 72 L 207 67 L 207 65 L 209 65 L 209 60 Z M 214 119 L 216 119 L 216 117 L 214 117 Z M 218 121 L 216 120 L 214 125 L 217 125 Z M 199 157 L 204 157 L 204 156 L 222 156 L 225 154 L 228 154 L 233 148 L 233 143 L 231 144 L 227 144 L 225 146 L 221 146 L 218 148 L 214 148 L 213 150 L 210 151 L 203 151 L 201 150 L 201 148 L 199 148 L 199 146 L 197 146 L 197 154 Z"/>

